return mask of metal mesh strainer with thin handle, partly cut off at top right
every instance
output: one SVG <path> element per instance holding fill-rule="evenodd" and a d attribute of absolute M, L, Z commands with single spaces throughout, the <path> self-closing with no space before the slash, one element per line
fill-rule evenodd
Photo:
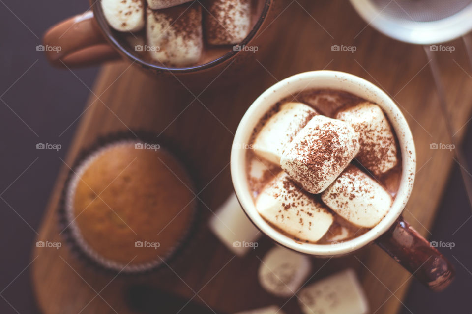
<path fill-rule="evenodd" d="M 403 42 L 419 45 L 440 44 L 466 35 L 472 30 L 472 0 L 350 0 L 357 13 L 368 25 L 383 34 Z M 472 43 L 463 37 L 472 67 Z M 462 180 L 472 209 L 472 178 L 467 160 L 454 138 L 447 111 L 444 87 L 440 79 L 438 62 L 432 46 L 424 46 L 430 60 L 440 109 L 446 125 L 449 141 L 461 170 Z"/>

